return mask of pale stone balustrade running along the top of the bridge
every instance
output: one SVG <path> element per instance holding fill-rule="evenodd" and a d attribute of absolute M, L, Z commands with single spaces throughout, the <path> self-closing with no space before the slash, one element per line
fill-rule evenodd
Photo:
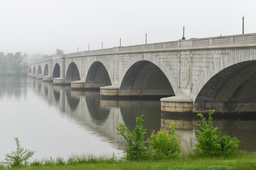
<path fill-rule="evenodd" d="M 49 59 L 57 59 L 60 57 L 83 57 L 90 55 L 107 55 L 113 53 L 128 53 L 128 52 L 144 52 L 152 50 L 178 50 L 182 48 L 193 48 L 193 47 L 214 47 L 214 46 L 225 46 L 225 45 L 245 45 L 255 44 L 256 45 L 256 33 L 244 34 L 244 35 L 228 35 L 218 36 L 213 38 L 191 38 L 190 40 L 178 40 L 170 42 L 159 42 L 146 45 L 132 45 L 125 47 L 112 47 L 103 50 L 92 50 L 83 52 L 74 52 L 65 54 L 63 56 L 53 56 L 48 59 L 38 60 L 36 62 L 43 62 Z"/>

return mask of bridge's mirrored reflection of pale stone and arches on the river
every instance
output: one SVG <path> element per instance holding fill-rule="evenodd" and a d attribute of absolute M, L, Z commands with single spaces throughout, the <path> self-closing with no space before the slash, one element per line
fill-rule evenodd
<path fill-rule="evenodd" d="M 196 143 L 193 130 L 198 129 L 195 124 L 200 123 L 200 120 L 191 115 L 165 115 L 160 111 L 159 101 L 101 100 L 100 92 L 97 91 L 71 91 L 70 86 L 53 86 L 52 83 L 37 79 L 29 81 L 31 84 L 28 85 L 33 91 L 44 98 L 48 105 L 59 108 L 63 118 L 68 118 L 80 128 L 89 129 L 100 140 L 110 142 L 119 149 L 124 147 L 123 138 L 117 135 L 114 127 L 118 123 L 125 123 L 129 130 L 133 130 L 135 119 L 141 115 L 144 115 L 146 138 L 153 130 L 169 129 L 173 121 L 176 123 L 176 131 L 181 135 L 184 150 L 193 149 Z M 214 125 L 223 134 L 238 137 L 242 141 L 241 149 L 256 150 L 256 120 L 214 118 Z"/>

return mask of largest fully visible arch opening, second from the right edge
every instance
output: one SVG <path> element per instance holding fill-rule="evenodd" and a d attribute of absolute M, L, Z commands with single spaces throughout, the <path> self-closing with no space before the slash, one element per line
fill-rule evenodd
<path fill-rule="evenodd" d="M 139 61 L 124 75 L 119 97 L 162 98 L 175 96 L 164 72 L 149 61 Z"/>

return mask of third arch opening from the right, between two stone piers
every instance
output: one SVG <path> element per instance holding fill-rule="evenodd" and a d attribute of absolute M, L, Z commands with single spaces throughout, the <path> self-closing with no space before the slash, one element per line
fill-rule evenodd
<path fill-rule="evenodd" d="M 110 86 L 110 75 L 106 67 L 101 62 L 94 62 L 85 79 L 85 89 L 100 90 L 101 86 Z"/>

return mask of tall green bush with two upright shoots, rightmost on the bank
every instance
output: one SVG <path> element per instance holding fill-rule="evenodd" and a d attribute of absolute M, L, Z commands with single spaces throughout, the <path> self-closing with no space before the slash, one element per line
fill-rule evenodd
<path fill-rule="evenodd" d="M 198 144 L 195 145 L 194 151 L 207 156 L 233 154 L 235 149 L 238 149 L 240 141 L 236 137 L 231 138 L 228 135 L 220 137 L 221 132 L 218 131 L 218 127 L 213 127 L 213 118 L 211 117 L 213 113 L 214 110 L 209 111 L 208 123 L 206 118 L 203 118 L 203 114 L 198 113 L 202 119 L 202 125 L 196 123 L 201 130 L 195 130 Z"/>

